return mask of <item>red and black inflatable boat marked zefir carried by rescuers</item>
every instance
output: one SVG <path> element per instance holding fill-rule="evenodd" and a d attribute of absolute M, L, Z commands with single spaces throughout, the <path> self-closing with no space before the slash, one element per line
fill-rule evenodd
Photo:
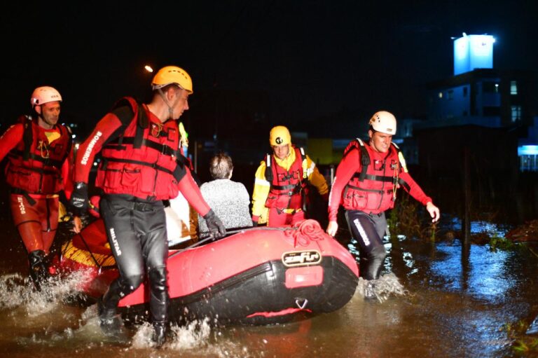
<path fill-rule="evenodd" d="M 94 302 L 118 276 L 104 225 L 97 220 L 62 247 L 59 272 L 88 270 L 78 294 Z M 209 317 L 219 324 L 275 324 L 342 308 L 357 287 L 350 252 L 305 220 L 294 227 L 248 228 L 207 245 L 170 250 L 170 320 Z M 142 284 L 120 301 L 123 319 L 147 319 Z"/>

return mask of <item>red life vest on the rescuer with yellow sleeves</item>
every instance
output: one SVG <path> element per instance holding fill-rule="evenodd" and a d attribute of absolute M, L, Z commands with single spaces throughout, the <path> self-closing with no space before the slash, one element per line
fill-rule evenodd
<path fill-rule="evenodd" d="M 291 147 L 295 151 L 295 161 L 285 170 L 277 165 L 273 155 L 268 154 L 265 158 L 265 179 L 271 186 L 265 207 L 277 207 L 279 209 L 303 209 L 306 196 L 307 178 L 303 178 L 304 150 Z"/>

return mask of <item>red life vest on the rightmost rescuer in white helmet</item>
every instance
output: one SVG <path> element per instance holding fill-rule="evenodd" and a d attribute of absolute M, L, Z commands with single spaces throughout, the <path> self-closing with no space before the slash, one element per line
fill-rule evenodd
<path fill-rule="evenodd" d="M 357 149 L 361 155 L 361 171 L 355 172 L 347 183 L 343 193 L 345 209 L 361 210 L 379 214 L 394 207 L 396 185 L 399 182 L 401 165 L 398 158 L 399 148 L 392 143 L 383 160 L 375 160 L 371 146 L 360 139 L 347 145 L 344 155 Z"/>

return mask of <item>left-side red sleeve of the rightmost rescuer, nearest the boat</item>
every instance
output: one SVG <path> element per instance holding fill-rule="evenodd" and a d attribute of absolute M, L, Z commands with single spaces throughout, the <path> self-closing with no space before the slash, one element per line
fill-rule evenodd
<path fill-rule="evenodd" d="M 359 150 L 352 149 L 347 152 L 338 167 L 336 167 L 336 174 L 331 186 L 331 194 L 329 195 L 329 221 L 336 221 L 344 188 L 353 174 L 361 169 L 359 159 Z"/>

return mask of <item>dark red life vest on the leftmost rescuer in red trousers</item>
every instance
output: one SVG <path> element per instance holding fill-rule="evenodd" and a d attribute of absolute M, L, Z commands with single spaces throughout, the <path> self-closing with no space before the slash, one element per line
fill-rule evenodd
<path fill-rule="evenodd" d="M 29 116 L 19 122 L 25 130 L 22 140 L 13 148 L 6 165 L 6 182 L 31 194 L 56 194 L 64 188 L 62 165 L 71 151 L 71 132 L 55 125 L 60 137 L 49 143 L 45 129 Z"/>

